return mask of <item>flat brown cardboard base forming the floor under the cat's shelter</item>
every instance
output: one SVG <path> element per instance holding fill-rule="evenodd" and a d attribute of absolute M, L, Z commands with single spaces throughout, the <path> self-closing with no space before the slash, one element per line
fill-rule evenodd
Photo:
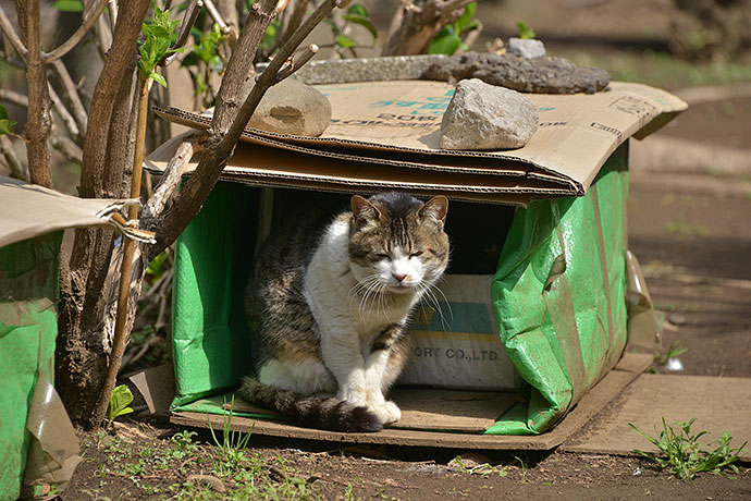
<path fill-rule="evenodd" d="M 539 436 L 517 437 L 478 433 L 478 431 L 490 426 L 495 417 L 516 401 L 517 396 L 514 393 L 430 389 L 402 390 L 403 413 L 399 425 L 413 424 L 413 426 L 418 425 L 422 429 L 432 428 L 436 430 L 464 429 L 465 432 L 387 428 L 377 433 L 343 433 L 238 416 L 232 418 L 231 427 L 233 430 L 253 431 L 255 435 L 345 443 L 448 449 L 550 450 L 563 443 L 584 426 L 592 416 L 602 411 L 651 363 L 651 355 L 624 355 L 618 366 L 592 388 L 555 428 Z M 398 393 L 396 395 L 399 396 Z M 176 425 L 199 428 L 207 428 L 209 423 L 216 429 L 222 429 L 224 425 L 222 416 L 209 415 L 207 420 L 206 414 L 198 413 L 174 413 L 170 420 Z"/>

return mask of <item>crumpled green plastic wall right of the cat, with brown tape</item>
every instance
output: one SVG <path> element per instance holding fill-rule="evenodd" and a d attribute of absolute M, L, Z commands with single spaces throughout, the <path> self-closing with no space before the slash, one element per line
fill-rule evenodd
<path fill-rule="evenodd" d="M 627 145 L 583 197 L 517 211 L 492 283 L 501 340 L 531 390 L 487 430 L 545 431 L 615 367 L 627 341 Z"/>

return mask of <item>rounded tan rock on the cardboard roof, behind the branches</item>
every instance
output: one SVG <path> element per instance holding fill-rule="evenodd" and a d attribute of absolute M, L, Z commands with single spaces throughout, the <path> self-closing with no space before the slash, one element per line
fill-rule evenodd
<path fill-rule="evenodd" d="M 254 81 L 246 83 L 247 96 Z M 331 122 L 331 103 L 318 89 L 295 80 L 283 80 L 266 91 L 248 126 L 297 136 L 320 136 Z"/>

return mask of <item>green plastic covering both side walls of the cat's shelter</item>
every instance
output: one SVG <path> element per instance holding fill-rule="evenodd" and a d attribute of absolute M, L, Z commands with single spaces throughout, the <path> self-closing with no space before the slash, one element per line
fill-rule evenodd
<path fill-rule="evenodd" d="M 488 433 L 544 431 L 623 353 L 627 148 L 613 152 L 586 196 L 538 200 L 516 212 L 492 298 L 501 340 L 529 391 Z M 177 242 L 173 410 L 188 410 L 251 370 L 243 289 L 258 206 L 258 190 L 219 183 Z"/>

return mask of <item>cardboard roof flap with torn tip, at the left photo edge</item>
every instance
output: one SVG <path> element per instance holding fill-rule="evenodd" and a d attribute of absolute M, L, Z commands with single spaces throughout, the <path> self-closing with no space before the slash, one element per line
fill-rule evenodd
<path fill-rule="evenodd" d="M 136 199 L 78 198 L 36 184 L 0 176 L 0 247 L 57 230 L 104 227 L 152 242 L 153 233 L 126 222 L 120 209 Z"/>

